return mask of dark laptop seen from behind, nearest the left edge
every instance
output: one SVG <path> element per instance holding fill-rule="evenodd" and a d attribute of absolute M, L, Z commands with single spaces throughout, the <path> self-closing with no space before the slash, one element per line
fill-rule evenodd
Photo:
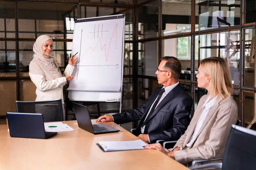
<path fill-rule="evenodd" d="M 11 137 L 47 139 L 57 132 L 45 132 L 41 113 L 7 113 Z"/>

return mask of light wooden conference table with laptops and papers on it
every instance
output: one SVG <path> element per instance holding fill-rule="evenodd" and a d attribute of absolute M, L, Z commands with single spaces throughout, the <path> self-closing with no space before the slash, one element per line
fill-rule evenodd
<path fill-rule="evenodd" d="M 50 139 L 12 138 L 7 125 L 0 125 L 0 170 L 188 170 L 158 150 L 103 152 L 99 141 L 138 139 L 113 122 L 105 124 L 120 132 L 100 135 L 80 129 L 76 121 L 63 123 L 74 130 Z"/>

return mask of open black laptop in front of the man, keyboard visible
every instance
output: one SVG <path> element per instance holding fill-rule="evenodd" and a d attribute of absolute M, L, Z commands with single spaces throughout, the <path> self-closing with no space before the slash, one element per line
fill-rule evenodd
<path fill-rule="evenodd" d="M 97 134 L 113 133 L 113 132 L 120 131 L 108 125 L 103 125 L 103 124 L 92 125 L 87 106 L 79 105 L 73 102 L 73 109 L 76 114 L 76 120 L 77 120 L 78 126 L 81 129 L 86 130 L 87 132 L 97 135 Z"/>

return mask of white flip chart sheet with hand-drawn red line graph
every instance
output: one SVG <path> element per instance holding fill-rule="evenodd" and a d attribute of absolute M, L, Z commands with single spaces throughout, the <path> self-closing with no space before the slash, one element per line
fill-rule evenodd
<path fill-rule="evenodd" d="M 78 61 L 72 74 L 75 77 L 70 81 L 68 90 L 120 91 L 124 17 L 110 18 L 79 19 L 75 23 L 72 54 L 78 52 Z"/>

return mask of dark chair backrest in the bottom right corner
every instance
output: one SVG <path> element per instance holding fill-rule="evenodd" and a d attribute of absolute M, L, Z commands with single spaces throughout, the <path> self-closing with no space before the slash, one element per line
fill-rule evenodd
<path fill-rule="evenodd" d="M 232 125 L 222 159 L 222 170 L 256 167 L 256 131 Z"/>

